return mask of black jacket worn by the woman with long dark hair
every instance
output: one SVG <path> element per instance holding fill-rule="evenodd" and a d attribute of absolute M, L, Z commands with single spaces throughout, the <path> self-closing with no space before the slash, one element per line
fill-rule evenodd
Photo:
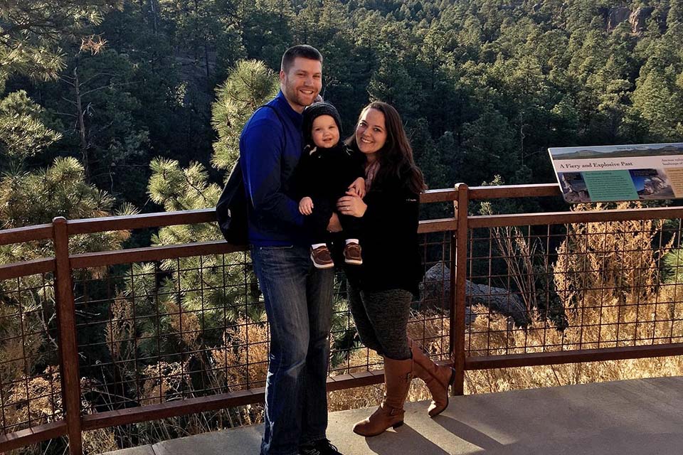
<path fill-rule="evenodd" d="M 408 188 L 407 180 L 386 176 L 365 196 L 363 264 L 346 267 L 346 276 L 361 290 L 405 289 L 418 295 L 424 274 L 418 245 L 420 197 Z"/>

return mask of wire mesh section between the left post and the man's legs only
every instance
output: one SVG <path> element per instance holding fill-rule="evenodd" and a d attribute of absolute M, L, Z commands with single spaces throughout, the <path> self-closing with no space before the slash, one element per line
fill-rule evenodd
<path fill-rule="evenodd" d="M 82 272 L 78 346 L 93 410 L 263 386 L 268 328 L 245 252 Z"/>

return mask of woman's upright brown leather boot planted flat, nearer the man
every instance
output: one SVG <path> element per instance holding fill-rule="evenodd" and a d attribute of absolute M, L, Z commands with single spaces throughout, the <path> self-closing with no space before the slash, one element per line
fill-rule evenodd
<path fill-rule="evenodd" d="M 365 420 L 354 425 L 354 433 L 361 436 L 377 436 L 388 427 L 403 425 L 403 402 L 411 387 L 413 359 L 393 360 L 384 358 L 384 400 L 377 410 Z"/>

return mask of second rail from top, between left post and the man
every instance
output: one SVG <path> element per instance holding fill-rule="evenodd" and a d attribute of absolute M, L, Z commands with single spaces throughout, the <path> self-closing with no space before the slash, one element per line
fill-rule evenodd
<path fill-rule="evenodd" d="M 225 240 L 164 247 L 132 248 L 130 250 L 73 255 L 71 256 L 71 267 L 73 269 L 85 269 L 87 267 L 129 264 L 131 262 L 160 261 L 162 259 L 175 259 L 176 257 L 223 255 L 244 250 L 246 250 L 245 246 L 231 245 Z"/>

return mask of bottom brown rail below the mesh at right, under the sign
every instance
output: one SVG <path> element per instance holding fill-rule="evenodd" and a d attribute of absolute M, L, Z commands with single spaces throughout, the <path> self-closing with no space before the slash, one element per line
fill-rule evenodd
<path fill-rule="evenodd" d="M 667 357 L 669 355 L 683 355 L 683 343 L 655 346 L 628 346 L 624 348 L 560 350 L 551 353 L 469 357 L 465 359 L 465 370 L 488 370 L 490 368 L 516 368 L 539 365 L 560 365 L 562 363 L 601 362 L 604 360 Z"/>

